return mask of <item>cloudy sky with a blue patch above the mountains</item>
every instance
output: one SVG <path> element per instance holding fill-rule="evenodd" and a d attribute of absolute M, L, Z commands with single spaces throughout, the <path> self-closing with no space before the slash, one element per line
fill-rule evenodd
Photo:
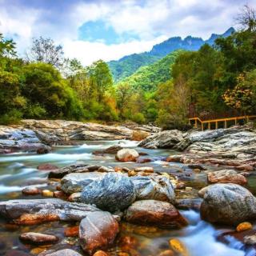
<path fill-rule="evenodd" d="M 53 38 L 84 65 L 150 50 L 173 36 L 209 38 L 235 26 L 255 0 L 0 0 L 0 33 L 19 54 L 31 38 Z"/>

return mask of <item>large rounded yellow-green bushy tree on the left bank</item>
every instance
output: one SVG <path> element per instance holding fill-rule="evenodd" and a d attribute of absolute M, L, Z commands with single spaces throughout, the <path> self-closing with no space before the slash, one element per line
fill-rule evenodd
<path fill-rule="evenodd" d="M 53 66 L 46 63 L 32 63 L 24 66 L 22 73 L 24 82 L 22 95 L 33 108 L 44 114 L 41 118 L 80 118 L 82 106 L 76 97 L 74 90 L 62 78 L 61 74 Z"/>

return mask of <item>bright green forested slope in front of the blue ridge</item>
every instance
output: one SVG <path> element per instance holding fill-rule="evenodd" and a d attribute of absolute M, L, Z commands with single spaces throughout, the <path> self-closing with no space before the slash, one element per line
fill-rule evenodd
<path fill-rule="evenodd" d="M 149 66 L 141 66 L 134 74 L 123 78 L 122 82 L 127 82 L 135 89 L 156 90 L 160 82 L 166 82 L 170 79 L 170 66 L 175 62 L 180 51 L 175 50 Z"/>

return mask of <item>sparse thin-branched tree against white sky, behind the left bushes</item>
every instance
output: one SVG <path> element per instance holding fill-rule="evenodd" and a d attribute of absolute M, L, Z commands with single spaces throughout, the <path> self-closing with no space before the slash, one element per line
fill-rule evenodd
<path fill-rule="evenodd" d="M 58 69 L 65 62 L 62 46 L 55 46 L 54 40 L 50 38 L 34 38 L 26 56 L 29 62 L 45 62 Z"/>

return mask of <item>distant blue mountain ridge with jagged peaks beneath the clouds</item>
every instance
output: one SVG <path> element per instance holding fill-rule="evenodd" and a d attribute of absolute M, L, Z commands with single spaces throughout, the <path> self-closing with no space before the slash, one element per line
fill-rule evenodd
<path fill-rule="evenodd" d="M 169 38 L 153 46 L 149 52 L 131 54 L 120 58 L 118 61 L 110 61 L 108 65 L 113 74 L 114 82 L 118 82 L 134 74 L 139 67 L 157 62 L 174 50 L 198 50 L 203 44 L 208 43 L 213 45 L 216 38 L 227 37 L 233 32 L 234 28 L 230 27 L 224 34 L 211 34 L 210 38 L 205 41 L 202 38 L 194 38 L 192 36 L 184 39 L 181 37 Z"/>

